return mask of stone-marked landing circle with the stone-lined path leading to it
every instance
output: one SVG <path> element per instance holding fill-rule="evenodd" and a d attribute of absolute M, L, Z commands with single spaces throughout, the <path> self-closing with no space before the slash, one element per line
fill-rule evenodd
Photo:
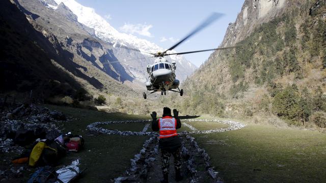
<path fill-rule="evenodd" d="M 150 136 L 143 144 L 142 149 L 134 158 L 130 160 L 130 167 L 121 175 L 115 178 L 115 182 L 159 182 L 162 179 L 160 165 L 160 151 L 158 149 L 158 134 L 156 132 L 147 132 L 150 124 L 146 124 L 142 132 L 109 130 L 100 125 L 110 125 L 119 123 L 150 123 L 151 120 L 128 120 L 128 121 L 106 121 L 96 122 L 87 126 L 87 129 L 95 133 L 108 135 L 148 135 Z M 187 122 L 186 122 L 187 121 Z M 212 129 L 199 131 L 190 125 L 191 121 L 214 121 L 216 123 L 228 124 L 228 128 Z M 183 157 L 182 174 L 184 179 L 179 182 L 223 182 L 218 177 L 218 172 L 210 166 L 209 155 L 203 148 L 200 148 L 191 134 L 208 134 L 238 130 L 246 125 L 231 120 L 220 119 L 189 119 L 182 120 L 182 124 L 192 131 L 179 133 L 182 139 L 181 154 Z M 173 167 L 173 156 L 170 158 L 170 182 L 174 181 L 175 172 Z"/>

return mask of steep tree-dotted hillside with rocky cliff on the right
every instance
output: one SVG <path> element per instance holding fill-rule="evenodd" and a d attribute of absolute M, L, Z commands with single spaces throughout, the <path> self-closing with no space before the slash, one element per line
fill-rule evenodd
<path fill-rule="evenodd" d="M 184 82 L 179 106 L 229 117 L 277 115 L 296 125 L 324 119 L 325 4 L 245 1 L 221 45 L 240 46 L 212 53 Z"/>

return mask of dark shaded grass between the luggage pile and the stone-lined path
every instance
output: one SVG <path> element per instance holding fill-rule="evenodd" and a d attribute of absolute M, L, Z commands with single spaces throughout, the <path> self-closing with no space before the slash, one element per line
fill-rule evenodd
<path fill-rule="evenodd" d="M 148 136 L 119 136 L 119 135 L 96 135 L 87 133 L 87 125 L 97 121 L 123 120 L 123 119 L 149 119 L 150 116 L 128 115 L 123 113 L 106 113 L 94 110 L 77 109 L 62 106 L 46 105 L 51 110 L 64 112 L 72 116 L 73 120 L 63 124 L 65 130 L 72 134 L 83 135 L 85 149 L 78 153 L 68 153 L 59 161 L 60 165 L 70 164 L 72 160 L 80 159 L 81 168 L 87 168 L 78 182 L 108 182 L 110 179 L 120 176 L 130 166 L 130 159 L 141 149 Z M 140 129 L 144 124 L 115 124 L 114 127 L 121 129 Z M 113 127 L 110 125 L 110 127 Z"/>

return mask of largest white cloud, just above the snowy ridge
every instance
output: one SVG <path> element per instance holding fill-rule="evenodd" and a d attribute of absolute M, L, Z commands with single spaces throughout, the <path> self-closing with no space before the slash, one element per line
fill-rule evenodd
<path fill-rule="evenodd" d="M 153 37 L 152 34 L 149 32 L 149 29 L 152 28 L 153 25 L 146 23 L 141 24 L 131 24 L 131 23 L 124 23 L 123 26 L 120 27 L 120 30 L 124 33 L 134 34 L 137 33 L 142 36 Z"/>

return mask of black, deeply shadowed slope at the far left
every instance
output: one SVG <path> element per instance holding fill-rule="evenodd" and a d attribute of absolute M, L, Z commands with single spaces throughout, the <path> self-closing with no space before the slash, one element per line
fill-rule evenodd
<path fill-rule="evenodd" d="M 71 95 L 80 89 L 80 83 L 52 64 L 52 60 L 69 59 L 69 55 L 64 50 L 56 50 L 55 44 L 35 31 L 25 15 L 10 1 L 1 1 L 0 4 L 1 91 L 33 89 L 52 96 Z M 74 70 L 73 64 L 66 66 L 101 87 L 96 80 Z"/>

